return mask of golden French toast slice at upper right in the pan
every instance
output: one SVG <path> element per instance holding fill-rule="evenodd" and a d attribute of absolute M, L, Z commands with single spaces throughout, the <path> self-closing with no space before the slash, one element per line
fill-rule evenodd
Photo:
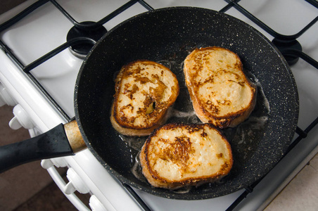
<path fill-rule="evenodd" d="M 235 127 L 255 107 L 256 87 L 244 74 L 239 56 L 228 49 L 195 49 L 184 60 L 184 76 L 202 122 Z"/>

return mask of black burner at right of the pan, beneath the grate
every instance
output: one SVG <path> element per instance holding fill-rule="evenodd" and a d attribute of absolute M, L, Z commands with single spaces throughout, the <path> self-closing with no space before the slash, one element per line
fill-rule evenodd
<path fill-rule="evenodd" d="M 303 50 L 303 48 L 300 45 L 300 43 L 297 40 L 295 40 L 295 39 L 282 40 L 282 39 L 274 38 L 272 43 L 281 52 L 283 52 L 284 50 L 288 50 L 288 49 L 294 49 L 294 50 L 298 50 L 298 51 L 302 51 Z M 288 65 L 295 65 L 295 63 L 297 63 L 298 59 L 299 59 L 298 56 L 284 55 L 284 53 L 283 53 L 283 56 L 286 59 Z"/>

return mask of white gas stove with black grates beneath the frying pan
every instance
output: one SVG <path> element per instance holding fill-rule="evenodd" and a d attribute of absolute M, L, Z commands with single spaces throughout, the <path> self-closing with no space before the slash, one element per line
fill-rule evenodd
<path fill-rule="evenodd" d="M 122 185 L 88 149 L 42 160 L 42 167 L 78 210 L 262 210 L 318 151 L 317 1 L 26 1 L 0 16 L 0 105 L 15 106 L 11 128 L 25 127 L 31 136 L 69 122 L 75 116 L 75 79 L 87 51 L 76 44 L 89 46 L 98 39 L 80 34 L 70 41 L 67 37 L 77 33 L 71 30 L 74 25 L 102 23 L 110 30 L 134 15 L 168 6 L 227 13 L 255 27 L 281 50 L 300 98 L 298 128 L 288 153 L 257 184 L 208 200 L 160 198 Z M 58 167 L 68 168 L 68 182 Z M 89 193 L 89 205 L 75 191 Z"/>

